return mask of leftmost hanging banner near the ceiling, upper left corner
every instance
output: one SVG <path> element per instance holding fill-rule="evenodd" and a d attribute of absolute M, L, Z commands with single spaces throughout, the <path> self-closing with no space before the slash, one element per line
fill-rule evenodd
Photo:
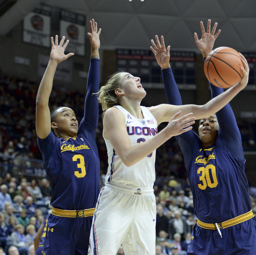
<path fill-rule="evenodd" d="M 23 19 L 23 41 L 50 47 L 50 24 L 51 6 L 41 3 Z"/>

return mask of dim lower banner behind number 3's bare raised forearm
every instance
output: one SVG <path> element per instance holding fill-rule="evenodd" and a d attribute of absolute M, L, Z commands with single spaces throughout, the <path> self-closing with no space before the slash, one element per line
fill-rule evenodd
<path fill-rule="evenodd" d="M 49 55 L 38 55 L 38 76 L 42 77 L 49 61 Z M 71 82 L 72 81 L 72 61 L 61 61 L 57 65 L 54 79 Z"/>

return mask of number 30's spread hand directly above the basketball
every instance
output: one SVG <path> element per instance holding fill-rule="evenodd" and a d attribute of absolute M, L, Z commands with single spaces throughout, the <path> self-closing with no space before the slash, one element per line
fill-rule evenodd
<path fill-rule="evenodd" d="M 217 27 L 217 22 L 215 22 L 212 30 L 210 31 L 210 19 L 208 19 L 208 22 L 207 22 L 207 32 L 205 32 L 204 30 L 202 21 L 200 21 L 200 26 L 201 26 L 202 37 L 201 39 L 198 39 L 197 33 L 195 32 L 194 40 L 197 47 L 201 50 L 203 57 L 206 57 L 212 50 L 214 41 L 218 37 L 220 30 L 218 30 L 216 34 L 214 34 Z"/>

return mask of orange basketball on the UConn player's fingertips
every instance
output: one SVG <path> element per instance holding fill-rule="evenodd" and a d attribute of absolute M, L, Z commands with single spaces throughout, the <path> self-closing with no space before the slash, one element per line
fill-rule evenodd
<path fill-rule="evenodd" d="M 213 85 L 231 87 L 243 76 L 241 66 L 244 67 L 241 56 L 235 49 L 218 47 L 205 58 L 204 73 Z"/>

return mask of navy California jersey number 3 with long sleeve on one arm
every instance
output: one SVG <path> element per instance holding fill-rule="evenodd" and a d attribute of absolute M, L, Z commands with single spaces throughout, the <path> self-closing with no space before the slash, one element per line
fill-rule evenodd
<path fill-rule="evenodd" d="M 99 59 L 90 60 L 84 116 L 75 139 L 57 138 L 52 132 L 37 137 L 44 168 L 52 188 L 51 205 L 65 210 L 94 208 L 99 193 L 99 156 L 95 141 L 99 86 Z"/>

